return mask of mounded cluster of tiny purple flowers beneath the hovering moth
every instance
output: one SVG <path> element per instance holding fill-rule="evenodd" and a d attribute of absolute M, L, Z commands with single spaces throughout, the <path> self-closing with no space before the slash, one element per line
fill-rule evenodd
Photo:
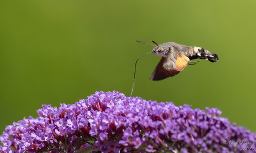
<path fill-rule="evenodd" d="M 206 110 L 95 92 L 7 126 L 0 152 L 256 152 L 256 133 Z"/>

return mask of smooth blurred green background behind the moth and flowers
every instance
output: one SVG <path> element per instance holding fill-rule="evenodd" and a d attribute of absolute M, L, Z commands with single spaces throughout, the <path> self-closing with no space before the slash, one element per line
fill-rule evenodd
<path fill-rule="evenodd" d="M 161 57 L 138 61 L 133 96 L 215 107 L 256 131 L 256 1 L 0 1 L 0 134 L 42 104 L 60 106 L 95 91 L 130 96 L 134 64 L 175 42 L 219 55 L 178 76 L 149 77 Z"/>

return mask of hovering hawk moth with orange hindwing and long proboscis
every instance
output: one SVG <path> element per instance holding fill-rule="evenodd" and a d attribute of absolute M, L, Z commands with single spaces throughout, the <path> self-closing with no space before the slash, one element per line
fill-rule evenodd
<path fill-rule="evenodd" d="M 136 41 L 136 42 L 149 44 L 149 43 L 140 42 L 140 41 Z M 219 60 L 219 57 L 217 54 L 211 53 L 201 47 L 186 46 L 186 45 L 181 45 L 173 42 L 168 42 L 168 43 L 163 43 L 161 45 L 158 45 L 156 42 L 154 41 L 152 42 L 156 45 L 149 44 L 149 45 L 155 46 L 154 49 L 149 53 L 154 53 L 157 56 L 162 56 L 162 58 L 159 61 L 153 73 L 151 74 L 149 78 L 150 80 L 162 80 L 167 77 L 173 77 L 179 74 L 180 71 L 182 71 L 187 65 L 194 65 L 196 64 L 196 62 L 199 62 L 199 61 L 192 62 L 191 60 L 203 59 L 203 60 L 209 60 L 210 62 L 217 62 Z M 142 57 L 144 57 L 145 55 L 142 55 Z M 137 61 L 139 59 L 137 59 Z M 135 81 L 137 61 L 135 62 L 133 86 Z M 132 91 L 133 91 L 133 86 L 132 86 Z M 131 92 L 131 95 L 132 95 L 132 92 Z"/>

